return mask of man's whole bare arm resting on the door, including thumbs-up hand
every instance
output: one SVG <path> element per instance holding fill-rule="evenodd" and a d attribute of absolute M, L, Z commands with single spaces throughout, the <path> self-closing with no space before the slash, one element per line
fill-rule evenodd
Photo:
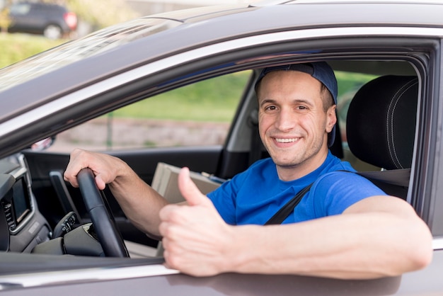
<path fill-rule="evenodd" d="M 191 275 L 224 272 L 379 278 L 424 268 L 432 236 L 408 203 L 374 196 L 343 215 L 284 225 L 230 226 L 192 184 L 179 186 L 190 206 L 161 210 L 166 264 Z"/>

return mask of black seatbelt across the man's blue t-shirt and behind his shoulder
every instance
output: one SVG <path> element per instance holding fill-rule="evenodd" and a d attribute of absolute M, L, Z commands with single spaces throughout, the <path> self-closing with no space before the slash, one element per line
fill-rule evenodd
<path fill-rule="evenodd" d="M 348 171 L 353 173 L 351 171 Z M 396 169 L 389 171 L 360 171 L 355 172 L 357 175 L 363 176 L 369 180 L 381 181 L 395 186 L 409 186 L 410 169 Z M 289 200 L 283 207 L 278 210 L 265 225 L 282 224 L 282 222 L 294 211 L 294 208 L 300 203 L 301 198 L 308 193 L 313 183 L 301 189 L 294 198 Z"/>

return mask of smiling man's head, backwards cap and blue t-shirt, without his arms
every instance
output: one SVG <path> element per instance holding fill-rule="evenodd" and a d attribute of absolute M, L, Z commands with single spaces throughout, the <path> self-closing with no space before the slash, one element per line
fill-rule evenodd
<path fill-rule="evenodd" d="M 337 82 L 328 64 L 265 68 L 255 90 L 260 137 L 270 159 L 257 161 L 209 193 L 226 222 L 265 224 L 311 184 L 284 223 L 338 215 L 359 200 L 386 195 L 366 178 L 350 173 L 355 171 L 352 166 L 328 150 L 337 120 Z"/>

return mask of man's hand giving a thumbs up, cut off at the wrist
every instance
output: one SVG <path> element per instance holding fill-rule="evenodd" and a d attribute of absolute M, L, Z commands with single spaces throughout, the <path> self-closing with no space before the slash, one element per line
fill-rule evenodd
<path fill-rule="evenodd" d="M 188 168 L 180 171 L 178 187 L 188 205 L 167 205 L 159 214 L 166 266 L 198 276 L 227 271 L 234 227 L 195 186 Z"/>

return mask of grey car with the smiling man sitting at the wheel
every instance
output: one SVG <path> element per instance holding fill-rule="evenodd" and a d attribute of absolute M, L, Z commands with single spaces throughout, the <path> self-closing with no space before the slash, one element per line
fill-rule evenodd
<path fill-rule="evenodd" d="M 442 14 L 443 4 L 432 0 L 192 8 L 113 25 L 1 69 L 0 290 L 8 295 L 442 294 Z M 63 179 L 74 147 L 120 157 L 159 190 L 161 184 L 166 184 L 162 190 L 173 190 L 175 179 L 173 169 L 171 178 L 160 174 L 160 164 L 188 166 L 206 183 L 231 178 L 267 157 L 256 125 L 254 84 L 260 70 L 316 61 L 328 62 L 339 82 L 340 132 L 331 152 L 413 206 L 432 232 L 433 258 L 426 268 L 372 280 L 240 273 L 196 278 L 163 266 L 159 241 L 127 220 L 108 189 L 103 228 L 86 207 L 89 195 L 100 195 L 88 175 L 81 181 L 84 198 Z M 232 86 L 222 84 L 226 80 Z M 186 91 L 195 84 L 207 88 L 191 96 Z M 225 94 L 234 84 L 239 91 Z M 177 98 L 176 91 L 185 96 Z M 225 98 L 217 99 L 220 93 Z M 183 100 L 191 108 L 182 109 Z M 156 118 L 160 111 L 188 116 L 207 102 L 214 105 L 203 110 L 210 119 L 199 124 L 203 132 L 186 120 L 171 125 Z M 233 106 L 231 125 L 214 125 L 227 105 Z M 118 120 L 131 107 L 149 115 Z M 182 139 L 159 142 L 171 129 L 174 139 Z M 215 133 L 216 140 L 199 144 Z M 185 142 L 192 137 L 197 142 Z M 113 253 L 109 244 L 115 242 L 126 247 Z"/>

